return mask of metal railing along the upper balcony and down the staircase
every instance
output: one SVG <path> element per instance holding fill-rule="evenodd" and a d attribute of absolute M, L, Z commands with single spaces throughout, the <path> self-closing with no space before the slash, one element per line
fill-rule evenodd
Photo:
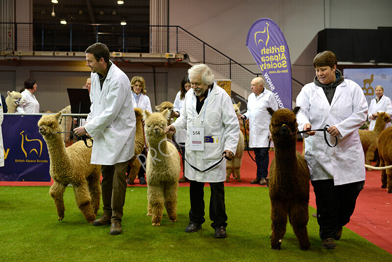
<path fill-rule="evenodd" d="M 253 73 L 181 26 L 0 23 L 2 51 L 84 52 L 91 43 L 111 52 L 186 53 L 251 92 Z M 293 79 L 293 100 L 303 84 Z"/>

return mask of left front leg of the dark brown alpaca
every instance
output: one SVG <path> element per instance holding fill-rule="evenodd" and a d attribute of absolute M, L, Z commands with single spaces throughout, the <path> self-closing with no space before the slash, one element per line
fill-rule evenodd
<path fill-rule="evenodd" d="M 283 236 L 286 233 L 288 204 L 271 199 L 271 248 L 280 250 Z"/>

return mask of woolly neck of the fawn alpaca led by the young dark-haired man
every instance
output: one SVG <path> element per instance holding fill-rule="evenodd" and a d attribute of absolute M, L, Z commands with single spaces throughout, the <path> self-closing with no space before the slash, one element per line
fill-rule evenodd
<path fill-rule="evenodd" d="M 61 135 L 55 134 L 52 135 L 49 139 L 45 139 L 48 152 L 50 163 L 56 162 L 57 167 L 66 167 L 69 165 L 69 156 L 65 149 L 64 140 L 61 138 Z"/>

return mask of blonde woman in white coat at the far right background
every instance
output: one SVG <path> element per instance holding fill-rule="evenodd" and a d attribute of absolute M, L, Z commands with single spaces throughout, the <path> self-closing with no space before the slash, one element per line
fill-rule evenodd
<path fill-rule="evenodd" d="M 377 85 L 374 91 L 376 92 L 376 97 L 371 100 L 368 111 L 368 118 L 370 120 L 369 130 L 374 130 L 378 113 L 387 112 L 392 116 L 392 102 L 389 97 L 384 96 L 384 88 L 381 85 Z M 391 122 L 387 123 L 385 128 L 390 126 Z"/>

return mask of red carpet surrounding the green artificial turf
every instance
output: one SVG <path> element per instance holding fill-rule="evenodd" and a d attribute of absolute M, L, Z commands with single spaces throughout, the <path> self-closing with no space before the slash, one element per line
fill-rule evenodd
<path fill-rule="evenodd" d="M 302 141 L 297 142 L 297 150 L 302 152 Z M 250 154 L 254 158 L 253 152 L 250 152 Z M 273 157 L 274 152 L 270 151 L 270 161 Z M 351 216 L 351 221 L 346 225 L 346 227 L 392 254 L 392 194 L 388 194 L 387 189 L 381 188 L 380 173 L 381 171 L 377 170 L 366 171 L 365 188 L 359 194 L 354 214 Z M 225 183 L 225 186 L 260 186 L 258 184 L 250 183 L 250 181 L 255 178 L 256 163 L 253 162 L 248 156 L 248 153 L 245 152 L 241 167 L 242 182 L 238 182 L 237 180 L 230 178 L 230 182 Z M 51 185 L 52 183 L 53 182 L 0 181 L 0 185 L 11 186 Z M 180 183 L 179 185 L 189 186 L 189 183 Z M 136 179 L 134 185 L 128 186 L 147 185 L 140 185 L 138 179 Z M 309 204 L 316 208 L 312 185 Z M 310 219 L 312 219 L 312 217 Z"/>

